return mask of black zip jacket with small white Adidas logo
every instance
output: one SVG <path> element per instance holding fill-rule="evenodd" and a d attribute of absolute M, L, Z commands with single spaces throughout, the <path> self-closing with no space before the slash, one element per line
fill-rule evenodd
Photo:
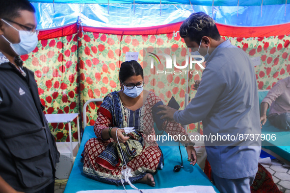
<path fill-rule="evenodd" d="M 0 64 L 0 176 L 17 191 L 33 193 L 53 182 L 59 161 L 43 113 L 34 73 Z"/>

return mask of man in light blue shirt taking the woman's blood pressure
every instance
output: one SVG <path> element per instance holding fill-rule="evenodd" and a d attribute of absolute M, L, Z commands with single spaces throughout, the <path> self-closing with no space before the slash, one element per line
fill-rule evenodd
<path fill-rule="evenodd" d="M 180 35 L 194 55 L 204 56 L 206 68 L 185 110 L 162 106 L 161 119 L 181 124 L 202 121 L 216 187 L 223 193 L 250 193 L 261 151 L 259 99 L 251 59 L 224 41 L 214 21 L 203 12 L 191 14 L 181 25 Z"/>

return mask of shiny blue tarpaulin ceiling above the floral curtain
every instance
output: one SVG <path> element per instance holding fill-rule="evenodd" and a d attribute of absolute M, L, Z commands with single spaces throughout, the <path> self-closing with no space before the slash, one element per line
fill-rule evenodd
<path fill-rule="evenodd" d="M 94 27 L 146 27 L 185 20 L 203 11 L 217 23 L 267 26 L 290 22 L 285 0 L 30 0 L 38 29 L 76 23 Z M 109 2 L 109 3 L 108 3 Z M 190 5 L 190 2 L 192 5 Z M 213 2 L 213 6 L 212 6 Z M 239 4 L 237 4 L 239 3 Z M 290 3 L 290 0 L 288 0 Z"/>

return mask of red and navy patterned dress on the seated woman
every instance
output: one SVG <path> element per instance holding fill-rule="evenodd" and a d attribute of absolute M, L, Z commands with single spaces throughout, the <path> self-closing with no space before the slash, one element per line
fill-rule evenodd
<path fill-rule="evenodd" d="M 110 184 L 121 184 L 121 165 L 114 164 L 111 159 L 117 155 L 112 155 L 109 147 L 115 143 L 112 138 L 109 140 L 102 139 L 102 130 L 113 126 L 118 128 L 135 127 L 143 133 L 143 149 L 140 154 L 132 158 L 127 166 L 132 170 L 131 182 L 136 182 L 142 179 L 147 172 L 154 173 L 157 169 L 162 168 L 161 151 L 158 144 L 150 136 L 155 136 L 154 120 L 152 115 L 152 107 L 161 101 L 158 96 L 150 92 L 146 98 L 144 105 L 132 111 L 124 107 L 118 92 L 112 92 L 105 96 L 101 107 L 98 109 L 98 118 L 94 124 L 94 132 L 97 138 L 92 138 L 87 141 L 83 151 L 83 172 L 91 178 Z M 170 121 L 163 123 L 164 131 L 168 134 L 187 135 L 185 129 L 180 124 Z M 107 163 L 112 167 L 100 165 L 100 155 L 103 154 Z"/>

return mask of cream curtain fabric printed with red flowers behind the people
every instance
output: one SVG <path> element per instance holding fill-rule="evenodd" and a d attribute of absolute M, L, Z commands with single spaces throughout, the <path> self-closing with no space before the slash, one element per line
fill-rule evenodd
<path fill-rule="evenodd" d="M 255 67 L 258 88 L 270 89 L 280 79 L 290 74 L 290 35 L 235 38 L 233 45 L 242 48 L 251 57 L 260 57 L 261 65 Z M 103 98 L 119 90 L 118 70 L 125 61 L 126 52 L 139 52 L 138 62 L 145 67 L 143 48 L 186 48 L 183 39 L 177 35 L 112 35 L 81 32 L 61 38 L 41 40 L 37 47 L 21 58 L 24 65 L 35 72 L 39 96 L 46 107 L 46 113 L 80 113 L 84 102 L 91 98 Z M 185 50 L 186 51 L 186 50 Z M 184 54 L 184 51 L 180 51 Z M 161 68 L 161 66 L 160 66 Z M 189 96 L 194 97 L 193 81 L 198 74 L 189 77 Z M 174 96 L 181 109 L 185 105 L 185 76 L 167 74 L 159 79 L 154 73 L 144 73 L 145 89 L 155 92 L 165 103 Z M 97 119 L 100 103 L 87 107 L 85 118 L 88 125 Z M 78 139 L 77 121 L 72 124 L 74 141 Z M 52 123 L 51 131 L 57 141 L 68 141 L 68 124 Z M 197 124 L 190 124 L 188 132 L 197 131 Z M 202 132 L 202 131 L 200 131 Z"/>

